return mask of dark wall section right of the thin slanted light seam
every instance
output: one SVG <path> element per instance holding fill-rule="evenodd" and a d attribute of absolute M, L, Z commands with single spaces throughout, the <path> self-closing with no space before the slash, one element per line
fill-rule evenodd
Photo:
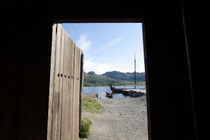
<path fill-rule="evenodd" d="M 193 5 L 193 6 L 192 6 Z M 208 136 L 209 125 L 209 4 L 184 3 L 190 73 L 199 139 Z"/>

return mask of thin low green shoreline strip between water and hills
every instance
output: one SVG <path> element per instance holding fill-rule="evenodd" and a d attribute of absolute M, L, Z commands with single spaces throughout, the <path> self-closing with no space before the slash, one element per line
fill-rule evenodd
<path fill-rule="evenodd" d="M 133 82 L 126 82 L 126 83 L 113 83 L 113 86 L 129 86 L 134 85 Z M 137 86 L 145 86 L 145 82 L 137 82 Z M 109 84 L 84 84 L 84 87 L 102 87 L 102 86 L 109 86 Z"/>

